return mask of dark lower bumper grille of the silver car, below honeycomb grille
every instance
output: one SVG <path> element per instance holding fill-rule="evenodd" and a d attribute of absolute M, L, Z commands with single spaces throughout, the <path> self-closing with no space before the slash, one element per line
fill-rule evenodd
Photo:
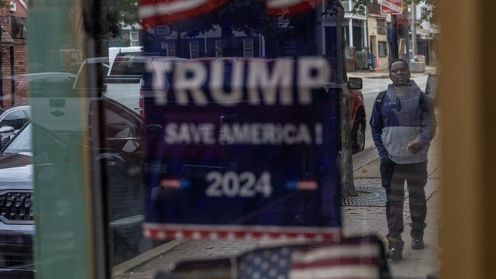
<path fill-rule="evenodd" d="M 31 235 L 0 234 L 0 269 L 34 269 Z"/>

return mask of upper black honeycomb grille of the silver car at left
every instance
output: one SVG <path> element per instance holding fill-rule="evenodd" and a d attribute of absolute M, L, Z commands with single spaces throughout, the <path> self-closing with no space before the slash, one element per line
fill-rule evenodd
<path fill-rule="evenodd" d="M 0 215 L 7 220 L 30 221 L 33 218 L 33 196 L 30 192 L 8 192 L 0 195 Z"/>

